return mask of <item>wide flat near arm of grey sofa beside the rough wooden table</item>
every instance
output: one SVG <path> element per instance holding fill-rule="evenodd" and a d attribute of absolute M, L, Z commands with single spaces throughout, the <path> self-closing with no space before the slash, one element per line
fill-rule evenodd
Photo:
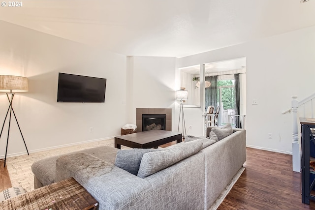
<path fill-rule="evenodd" d="M 99 202 L 99 209 L 122 210 L 150 202 L 149 181 L 88 153 L 69 154 L 56 162 L 56 181 L 73 177 Z"/>

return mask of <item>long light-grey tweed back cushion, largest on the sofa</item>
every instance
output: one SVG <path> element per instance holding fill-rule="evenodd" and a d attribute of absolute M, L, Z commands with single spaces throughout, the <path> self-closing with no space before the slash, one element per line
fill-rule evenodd
<path fill-rule="evenodd" d="M 145 153 L 142 157 L 138 177 L 146 178 L 171 166 L 202 149 L 202 141 L 194 140 L 172 145 L 163 150 Z"/>

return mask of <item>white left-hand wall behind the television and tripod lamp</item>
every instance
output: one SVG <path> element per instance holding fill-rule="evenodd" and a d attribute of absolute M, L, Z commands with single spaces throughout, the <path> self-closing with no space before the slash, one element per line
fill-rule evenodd
<path fill-rule="evenodd" d="M 120 135 L 127 122 L 126 56 L 2 21 L 0 29 L 0 74 L 29 78 L 29 92 L 17 93 L 13 101 L 29 151 Z M 58 72 L 106 78 L 105 103 L 57 103 Z M 1 125 L 8 105 L 5 93 L 0 93 Z M 7 127 L 0 139 L 0 158 Z M 8 154 L 17 153 L 26 150 L 14 120 Z"/>

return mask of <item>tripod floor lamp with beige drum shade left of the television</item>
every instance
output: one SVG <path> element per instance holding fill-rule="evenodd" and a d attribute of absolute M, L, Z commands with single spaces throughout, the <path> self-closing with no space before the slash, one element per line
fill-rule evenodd
<path fill-rule="evenodd" d="M 18 120 L 16 119 L 13 107 L 12 107 L 12 102 L 13 102 L 13 98 L 14 98 L 14 92 L 26 92 L 29 91 L 29 83 L 28 83 L 28 78 L 26 77 L 20 77 L 20 76 L 9 76 L 9 75 L 0 75 L 0 91 L 1 92 L 6 92 L 6 96 L 9 100 L 9 108 L 8 111 L 6 112 L 4 121 L 3 121 L 3 125 L 2 125 L 2 129 L 1 129 L 1 133 L 0 133 L 0 138 L 2 135 L 2 131 L 3 131 L 3 127 L 4 127 L 4 123 L 6 118 L 8 117 L 9 111 L 10 111 L 10 116 L 9 116 L 9 128 L 8 128 L 8 136 L 7 136 L 7 140 L 6 140 L 6 148 L 5 148 L 5 157 L 4 157 L 4 167 L 5 167 L 5 161 L 6 161 L 6 153 L 8 150 L 8 142 L 9 142 L 9 134 L 10 134 L 10 125 L 11 125 L 11 115 L 13 113 L 14 118 L 16 120 L 16 123 L 18 124 L 26 151 L 29 154 L 29 150 L 26 146 L 26 143 L 24 141 L 24 137 L 22 135 L 22 131 L 20 128 L 20 125 L 18 123 Z M 10 96 L 9 96 L 10 95 Z"/>

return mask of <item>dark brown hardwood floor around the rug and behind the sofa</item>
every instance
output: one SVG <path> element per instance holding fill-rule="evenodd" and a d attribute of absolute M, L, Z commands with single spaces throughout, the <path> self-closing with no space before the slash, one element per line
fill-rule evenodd
<path fill-rule="evenodd" d="M 176 144 L 171 142 L 161 147 Z M 218 210 L 315 210 L 302 204 L 300 173 L 292 172 L 292 156 L 247 148 L 246 168 Z M 0 160 L 0 191 L 11 187 Z"/>

